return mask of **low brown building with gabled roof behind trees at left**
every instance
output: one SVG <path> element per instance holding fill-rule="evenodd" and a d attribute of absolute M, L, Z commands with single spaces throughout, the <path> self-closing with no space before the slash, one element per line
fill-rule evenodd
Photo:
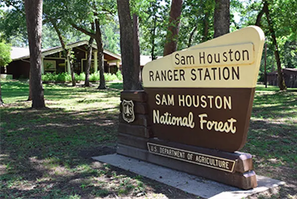
<path fill-rule="evenodd" d="M 78 41 L 67 45 L 74 52 L 74 71 L 77 74 L 85 71 L 87 65 L 87 46 L 88 41 Z M 92 64 L 90 72 L 98 71 L 97 46 L 92 44 Z M 116 73 L 120 67 L 121 56 L 103 50 L 104 53 L 104 72 Z M 12 74 L 13 78 L 28 78 L 30 71 L 29 48 L 12 47 L 12 61 L 6 66 L 6 74 Z M 42 74 L 47 72 L 70 72 L 64 50 L 61 46 L 41 50 Z M 2 71 L 1 71 L 2 72 Z"/>

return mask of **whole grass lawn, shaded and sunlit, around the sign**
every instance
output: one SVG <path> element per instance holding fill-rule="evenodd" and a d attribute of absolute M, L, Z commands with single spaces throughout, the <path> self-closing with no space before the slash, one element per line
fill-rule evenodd
<path fill-rule="evenodd" d="M 121 82 L 109 90 L 44 84 L 48 109 L 32 110 L 28 83 L 1 82 L 0 198 L 196 198 L 92 156 L 117 146 Z M 248 143 L 258 175 L 283 180 L 280 194 L 297 199 L 297 90 L 257 87 Z"/>

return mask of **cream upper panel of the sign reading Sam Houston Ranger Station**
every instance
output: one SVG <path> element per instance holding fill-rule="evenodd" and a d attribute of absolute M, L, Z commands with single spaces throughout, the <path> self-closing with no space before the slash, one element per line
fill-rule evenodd
<path fill-rule="evenodd" d="M 253 88 L 264 40 L 261 28 L 249 26 L 151 61 L 144 87 Z"/>

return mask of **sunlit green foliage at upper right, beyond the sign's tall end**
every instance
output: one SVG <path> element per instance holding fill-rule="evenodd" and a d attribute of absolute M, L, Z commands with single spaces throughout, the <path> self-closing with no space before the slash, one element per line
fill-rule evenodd
<path fill-rule="evenodd" d="M 273 21 L 274 30 L 279 46 L 282 67 L 297 67 L 297 0 L 268 0 L 270 17 Z M 239 27 L 254 25 L 258 13 L 263 7 L 263 1 L 249 1 L 240 10 L 241 21 Z M 272 43 L 271 32 L 265 13 L 261 18 L 261 28 L 265 32 L 267 42 L 267 72 L 277 69 L 275 60 L 275 46 Z M 262 57 L 260 73 L 264 72 L 264 53 Z"/>

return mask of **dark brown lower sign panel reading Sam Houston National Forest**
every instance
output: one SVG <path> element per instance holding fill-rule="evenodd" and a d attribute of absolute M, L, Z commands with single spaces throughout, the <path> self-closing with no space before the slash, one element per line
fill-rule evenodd
<path fill-rule="evenodd" d="M 147 88 L 152 132 L 162 140 L 236 151 L 246 142 L 254 91 Z"/>

